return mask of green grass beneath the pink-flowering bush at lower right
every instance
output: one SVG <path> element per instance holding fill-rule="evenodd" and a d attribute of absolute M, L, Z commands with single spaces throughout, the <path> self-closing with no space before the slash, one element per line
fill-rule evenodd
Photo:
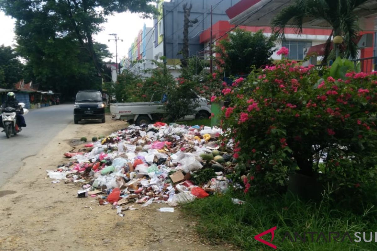
<path fill-rule="evenodd" d="M 331 193 L 331 192 L 329 192 Z M 357 231 L 370 233 L 377 231 L 376 212 L 368 211 L 360 203 L 360 212 L 352 213 L 349 208 L 337 205 L 330 196 L 317 203 L 302 202 L 292 195 L 269 196 L 263 194 L 257 197 L 245 196 L 242 193 L 228 192 L 225 195 L 209 196 L 205 199 L 196 199 L 190 204 L 183 205 L 186 215 L 198 218 L 197 230 L 202 237 L 213 243 L 227 242 L 241 250 L 274 250 L 254 239 L 256 234 L 262 233 L 277 226 L 272 243 L 277 250 L 282 251 L 372 251 L 377 250 L 374 239 L 371 243 L 354 242 L 354 233 Z M 244 205 L 236 205 L 231 198 L 246 201 Z M 349 207 L 352 207 L 351 205 Z M 284 241 L 287 231 L 294 237 L 294 232 L 323 232 L 327 242 L 321 237 L 319 242 L 311 242 L 311 235 L 307 234 L 307 242 Z M 352 242 L 346 237 L 343 242 L 328 242 L 329 232 L 340 232 L 342 239 L 348 231 Z M 317 240 L 318 235 L 314 235 Z M 361 235 L 361 237 L 363 237 Z M 271 234 L 262 239 L 270 242 Z"/>

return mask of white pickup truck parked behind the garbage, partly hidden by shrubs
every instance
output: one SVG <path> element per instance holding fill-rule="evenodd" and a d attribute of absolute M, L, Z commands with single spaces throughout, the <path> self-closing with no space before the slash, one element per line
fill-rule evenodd
<path fill-rule="evenodd" d="M 187 115 L 181 120 L 208 119 L 211 114 L 211 105 L 208 100 L 196 94 L 193 94 L 192 98 L 199 101 L 196 113 Z M 156 99 L 158 101 L 153 101 Z M 163 92 L 156 91 L 150 102 L 112 103 L 110 104 L 111 117 L 113 119 L 127 120 L 136 125 L 148 125 L 158 121 L 163 117 L 163 114 L 166 113 L 163 99 Z"/>

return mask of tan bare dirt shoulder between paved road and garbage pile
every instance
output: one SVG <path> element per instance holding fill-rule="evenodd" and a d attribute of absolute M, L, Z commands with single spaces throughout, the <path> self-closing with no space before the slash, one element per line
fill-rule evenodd
<path fill-rule="evenodd" d="M 204 251 L 232 250 L 210 246 L 195 233 L 195 222 L 175 208 L 174 213 L 157 211 L 164 204 L 135 208 L 116 215 L 110 205 L 95 198 L 77 198 L 78 184 L 57 184 L 46 178 L 46 170 L 64 163 L 69 141 L 86 136 L 107 135 L 125 123 L 107 118 L 105 124 L 69 124 L 57 132 L 37 155 L 0 189 L 0 250 L 134 250 Z"/>

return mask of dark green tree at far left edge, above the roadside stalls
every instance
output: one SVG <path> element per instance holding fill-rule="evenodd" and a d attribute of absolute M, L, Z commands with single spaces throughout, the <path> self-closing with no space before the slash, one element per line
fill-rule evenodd
<path fill-rule="evenodd" d="M 0 46 L 0 87 L 12 88 L 20 81 L 23 64 L 17 59 L 16 52 L 10 46 Z"/>

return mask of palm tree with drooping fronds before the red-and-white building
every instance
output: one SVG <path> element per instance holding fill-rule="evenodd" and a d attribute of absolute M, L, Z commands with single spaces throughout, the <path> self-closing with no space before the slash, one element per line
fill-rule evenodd
<path fill-rule="evenodd" d="M 326 41 L 323 62 L 327 61 L 331 51 L 332 37 L 343 37 L 342 50 L 347 58 L 357 57 L 356 37 L 359 34 L 359 17 L 355 9 L 370 0 L 295 0 L 293 5 L 282 9 L 271 21 L 272 31 L 280 39 L 284 39 L 286 26 L 293 27 L 302 35 L 302 27 L 308 20 L 325 20 L 333 28 Z"/>

